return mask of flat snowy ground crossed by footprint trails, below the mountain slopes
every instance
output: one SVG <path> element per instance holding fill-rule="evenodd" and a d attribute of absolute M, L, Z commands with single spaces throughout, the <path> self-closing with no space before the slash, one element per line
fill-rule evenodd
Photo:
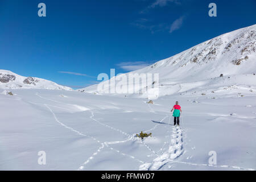
<path fill-rule="evenodd" d="M 2 170 L 256 169 L 256 95 L 245 88 L 173 94 L 154 105 L 64 90 L 11 91 L 0 94 Z M 170 118 L 176 100 L 180 129 Z M 134 137 L 141 131 L 152 137 Z M 45 166 L 39 151 L 46 152 Z M 208 164 L 209 151 L 217 165 Z"/>

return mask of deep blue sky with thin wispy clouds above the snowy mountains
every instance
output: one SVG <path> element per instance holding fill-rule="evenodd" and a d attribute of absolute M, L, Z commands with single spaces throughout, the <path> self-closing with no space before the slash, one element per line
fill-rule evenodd
<path fill-rule="evenodd" d="M 255 24 L 255 12 L 255 0 L 1 0 L 0 69 L 81 88 Z"/>

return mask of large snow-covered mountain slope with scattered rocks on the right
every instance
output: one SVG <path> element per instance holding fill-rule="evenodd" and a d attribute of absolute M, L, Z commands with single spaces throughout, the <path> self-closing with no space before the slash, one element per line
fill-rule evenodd
<path fill-rule="evenodd" d="M 255 85 L 255 49 L 256 24 L 217 36 L 175 56 L 130 73 L 159 73 L 159 96 L 188 92 L 199 86 L 209 88 L 213 85 Z M 221 74 L 223 77 L 220 77 Z M 118 76 L 113 77 L 112 80 L 115 78 Z M 116 85 L 117 82 L 115 81 Z M 92 85 L 79 91 L 95 93 L 97 86 Z M 110 84 L 104 89 L 109 90 L 111 86 L 113 85 Z M 145 88 L 135 86 L 137 93 L 140 90 L 143 92 L 143 89 Z"/>

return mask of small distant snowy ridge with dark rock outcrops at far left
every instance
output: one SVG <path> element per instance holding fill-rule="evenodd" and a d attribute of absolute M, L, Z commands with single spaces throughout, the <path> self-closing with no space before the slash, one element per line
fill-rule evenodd
<path fill-rule="evenodd" d="M 58 85 L 49 80 L 35 77 L 24 77 L 3 69 L 0 69 L 0 88 L 72 90 L 67 86 Z"/>

